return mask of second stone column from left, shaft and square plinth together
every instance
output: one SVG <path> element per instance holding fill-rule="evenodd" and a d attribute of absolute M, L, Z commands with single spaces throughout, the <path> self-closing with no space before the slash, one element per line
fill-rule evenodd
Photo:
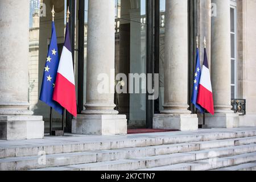
<path fill-rule="evenodd" d="M 126 115 L 114 110 L 114 1 L 89 0 L 86 110 L 72 121 L 72 133 L 126 134 Z"/>

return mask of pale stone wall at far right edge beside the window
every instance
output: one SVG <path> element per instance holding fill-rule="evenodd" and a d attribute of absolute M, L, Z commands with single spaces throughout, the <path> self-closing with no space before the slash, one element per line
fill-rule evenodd
<path fill-rule="evenodd" d="M 238 88 L 246 99 L 241 126 L 256 126 L 256 1 L 238 0 Z"/>

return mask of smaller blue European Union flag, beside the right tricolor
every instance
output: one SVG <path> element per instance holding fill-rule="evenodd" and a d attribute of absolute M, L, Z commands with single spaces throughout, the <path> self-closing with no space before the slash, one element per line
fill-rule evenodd
<path fill-rule="evenodd" d="M 193 93 L 192 93 L 192 104 L 196 106 L 197 109 L 200 110 L 201 113 L 204 113 L 203 107 L 197 104 L 197 95 L 199 90 L 201 78 L 201 66 L 200 66 L 200 55 L 199 49 L 196 49 L 196 71 L 195 71 L 195 79 L 193 80 Z"/>

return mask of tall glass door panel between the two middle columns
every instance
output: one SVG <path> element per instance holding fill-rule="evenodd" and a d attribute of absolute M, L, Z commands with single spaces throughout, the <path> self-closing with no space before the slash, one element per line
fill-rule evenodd
<path fill-rule="evenodd" d="M 115 94 L 115 104 L 119 114 L 126 114 L 130 129 L 144 128 L 147 81 L 146 1 L 116 0 L 115 7 L 115 73 L 126 75 L 128 92 Z"/>

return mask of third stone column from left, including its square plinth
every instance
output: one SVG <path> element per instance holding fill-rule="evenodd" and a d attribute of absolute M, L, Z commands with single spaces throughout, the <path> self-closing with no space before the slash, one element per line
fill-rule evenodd
<path fill-rule="evenodd" d="M 197 115 L 188 110 L 188 1 L 166 1 L 164 110 L 154 128 L 197 130 Z"/>

